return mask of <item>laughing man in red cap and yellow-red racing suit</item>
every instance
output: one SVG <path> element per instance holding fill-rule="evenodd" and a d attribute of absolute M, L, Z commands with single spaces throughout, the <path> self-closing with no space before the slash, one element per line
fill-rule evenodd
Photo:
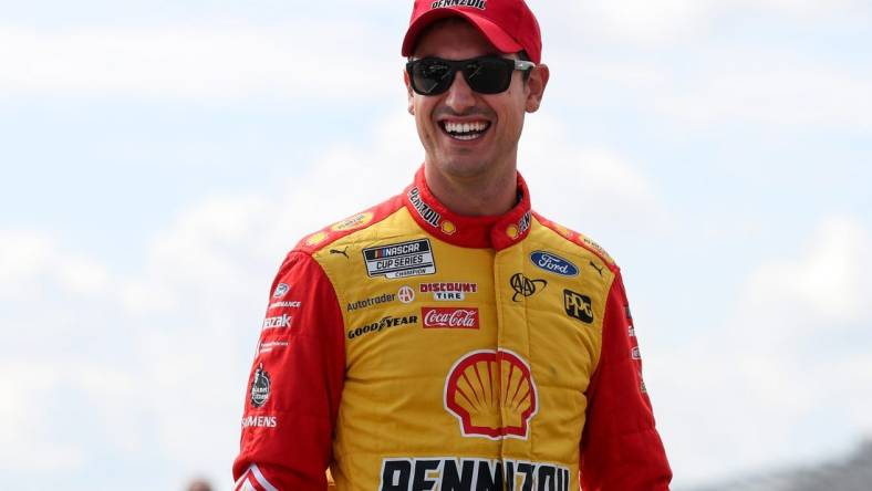
<path fill-rule="evenodd" d="M 668 489 L 620 270 L 516 170 L 532 12 L 418 0 L 403 54 L 424 165 L 281 265 L 237 489 Z"/>

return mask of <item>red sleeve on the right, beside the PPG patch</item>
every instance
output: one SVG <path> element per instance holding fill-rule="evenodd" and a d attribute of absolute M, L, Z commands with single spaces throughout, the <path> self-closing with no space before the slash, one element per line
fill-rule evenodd
<path fill-rule="evenodd" d="M 668 490 L 672 470 L 642 379 L 642 361 L 620 270 L 609 292 L 602 353 L 588 389 L 581 439 L 584 491 Z"/>

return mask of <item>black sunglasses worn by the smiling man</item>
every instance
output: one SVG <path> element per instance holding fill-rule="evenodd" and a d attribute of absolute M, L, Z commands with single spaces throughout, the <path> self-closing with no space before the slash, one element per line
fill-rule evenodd
<path fill-rule="evenodd" d="M 412 81 L 412 90 L 421 95 L 438 95 L 454 83 L 457 71 L 464 72 L 469 88 L 479 94 L 499 94 L 511 85 L 511 74 L 516 70 L 532 70 L 536 63 L 487 55 L 471 60 L 443 60 L 423 58 L 406 63 L 406 72 Z"/>

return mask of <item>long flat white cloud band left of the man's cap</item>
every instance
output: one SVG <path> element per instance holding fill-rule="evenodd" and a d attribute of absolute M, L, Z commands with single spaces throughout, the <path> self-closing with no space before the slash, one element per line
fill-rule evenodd
<path fill-rule="evenodd" d="M 313 39 L 318 51 L 304 48 Z M 370 59 L 361 39 L 377 44 L 383 34 L 364 23 L 304 19 L 257 28 L 0 27 L 0 94 L 215 103 L 384 95 L 398 84 L 398 59 Z"/>

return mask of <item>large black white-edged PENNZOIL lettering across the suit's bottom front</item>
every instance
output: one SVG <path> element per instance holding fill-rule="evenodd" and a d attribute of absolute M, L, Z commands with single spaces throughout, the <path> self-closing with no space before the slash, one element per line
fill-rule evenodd
<path fill-rule="evenodd" d="M 569 468 L 525 460 L 384 459 L 380 491 L 569 491 Z"/>

